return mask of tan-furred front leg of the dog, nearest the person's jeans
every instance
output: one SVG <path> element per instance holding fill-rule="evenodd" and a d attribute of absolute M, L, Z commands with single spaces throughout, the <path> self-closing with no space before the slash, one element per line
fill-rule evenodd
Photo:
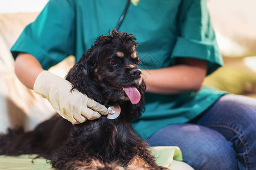
<path fill-rule="evenodd" d="M 126 170 L 166 170 L 168 168 L 159 167 L 153 160 L 147 163 L 139 156 L 135 156 L 129 164 L 127 164 Z"/>

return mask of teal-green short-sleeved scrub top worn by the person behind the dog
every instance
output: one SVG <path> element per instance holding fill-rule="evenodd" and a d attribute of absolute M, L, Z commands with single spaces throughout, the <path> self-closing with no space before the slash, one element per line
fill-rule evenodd
<path fill-rule="evenodd" d="M 98 35 L 115 28 L 127 1 L 49 0 L 11 48 L 35 56 L 44 69 L 73 55 L 76 61 Z M 141 69 L 175 65 L 177 57 L 208 61 L 208 74 L 222 65 L 210 24 L 207 0 L 141 0 L 130 3 L 119 31 L 133 33 Z M 133 121 L 134 130 L 148 138 L 170 124 L 184 124 L 199 116 L 225 92 L 202 88 L 179 95 L 146 93 L 145 111 Z"/>

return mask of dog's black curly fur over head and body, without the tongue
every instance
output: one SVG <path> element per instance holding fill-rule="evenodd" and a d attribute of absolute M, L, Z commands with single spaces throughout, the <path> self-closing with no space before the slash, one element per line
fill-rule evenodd
<path fill-rule="evenodd" d="M 146 142 L 131 127 L 131 120 L 143 110 L 146 88 L 137 66 L 135 40 L 133 35 L 114 30 L 99 36 L 66 78 L 73 84 L 72 90 L 77 89 L 106 107 L 119 104 L 118 118 L 101 116 L 72 125 L 56 114 L 28 133 L 9 129 L 0 136 L 0 154 L 38 154 L 61 170 L 166 169 L 156 165 Z M 118 57 L 117 52 L 123 57 Z M 122 89 L 129 86 L 140 92 L 138 104 L 131 104 Z"/>

